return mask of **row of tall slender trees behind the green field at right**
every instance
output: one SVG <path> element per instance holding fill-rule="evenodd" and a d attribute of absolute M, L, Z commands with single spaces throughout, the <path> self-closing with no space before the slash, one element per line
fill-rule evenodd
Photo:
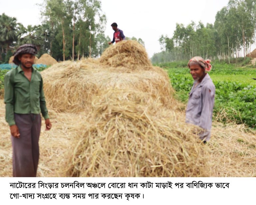
<path fill-rule="evenodd" d="M 203 58 L 228 59 L 246 57 L 255 42 L 256 0 L 230 0 L 217 12 L 214 24 L 191 22 L 176 24 L 173 36 L 161 35 L 162 52 L 155 53 L 153 62 Z"/>

